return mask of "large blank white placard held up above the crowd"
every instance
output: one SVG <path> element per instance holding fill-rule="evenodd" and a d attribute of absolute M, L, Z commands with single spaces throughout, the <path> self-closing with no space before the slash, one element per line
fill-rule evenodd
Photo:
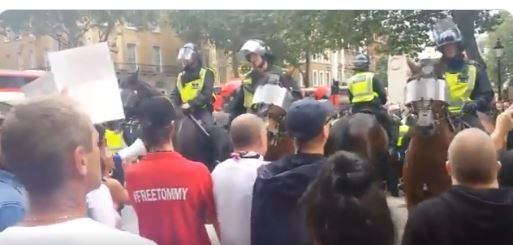
<path fill-rule="evenodd" d="M 80 102 L 93 123 L 125 118 L 107 43 L 49 53 L 48 59 L 57 89 Z"/>

